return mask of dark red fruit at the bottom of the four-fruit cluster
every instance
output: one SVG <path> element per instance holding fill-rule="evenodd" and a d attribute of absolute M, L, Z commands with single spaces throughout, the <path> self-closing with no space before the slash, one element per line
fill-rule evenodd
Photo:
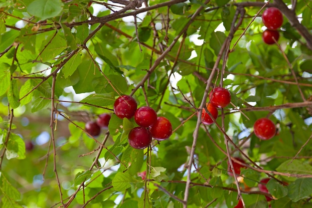
<path fill-rule="evenodd" d="M 135 127 L 129 132 L 128 141 L 131 147 L 144 149 L 151 144 L 152 135 L 150 131 L 144 127 Z"/>

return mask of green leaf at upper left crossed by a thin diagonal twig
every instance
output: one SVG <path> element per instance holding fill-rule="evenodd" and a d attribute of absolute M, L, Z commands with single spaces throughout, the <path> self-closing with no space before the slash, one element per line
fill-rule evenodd
<path fill-rule="evenodd" d="M 67 48 L 66 40 L 64 40 L 59 34 L 50 35 L 42 42 L 40 51 L 40 58 L 42 62 L 50 61 L 59 55 L 64 49 Z"/>

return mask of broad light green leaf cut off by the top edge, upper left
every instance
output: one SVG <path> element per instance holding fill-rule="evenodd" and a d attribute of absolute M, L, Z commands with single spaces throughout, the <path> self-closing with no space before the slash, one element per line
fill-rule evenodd
<path fill-rule="evenodd" d="M 34 0 L 27 6 L 27 11 L 41 19 L 57 16 L 62 10 L 60 0 Z"/>

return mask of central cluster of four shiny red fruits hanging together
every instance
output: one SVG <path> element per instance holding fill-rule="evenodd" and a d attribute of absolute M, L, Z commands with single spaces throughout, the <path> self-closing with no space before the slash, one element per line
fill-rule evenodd
<path fill-rule="evenodd" d="M 157 117 L 156 111 L 143 106 L 138 108 L 136 100 L 129 95 L 122 95 L 114 103 L 115 114 L 123 119 L 134 117 L 139 125 L 133 128 L 128 135 L 129 144 L 136 149 L 147 148 L 152 138 L 156 140 L 166 140 L 172 134 L 172 125 L 165 117 Z"/>

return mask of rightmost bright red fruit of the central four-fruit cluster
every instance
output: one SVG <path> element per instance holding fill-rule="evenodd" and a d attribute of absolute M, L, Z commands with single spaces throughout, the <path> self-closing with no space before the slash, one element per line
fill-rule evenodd
<path fill-rule="evenodd" d="M 157 117 L 156 122 L 150 126 L 152 137 L 156 140 L 166 140 L 172 134 L 172 125 L 165 117 Z"/>

